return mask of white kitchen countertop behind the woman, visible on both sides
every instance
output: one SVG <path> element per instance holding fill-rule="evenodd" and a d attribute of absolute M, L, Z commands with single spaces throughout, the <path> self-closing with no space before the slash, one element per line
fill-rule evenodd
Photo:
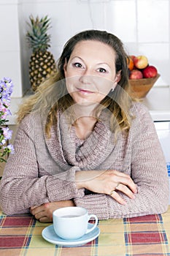
<path fill-rule="evenodd" d="M 8 124 L 16 124 L 16 112 L 18 107 L 26 99 L 28 95 L 23 98 L 12 98 L 9 109 L 12 116 L 8 116 Z M 142 103 L 150 110 L 150 114 L 154 121 L 169 121 L 170 120 L 170 87 L 159 86 L 153 87 L 147 94 L 147 97 L 142 99 Z"/>

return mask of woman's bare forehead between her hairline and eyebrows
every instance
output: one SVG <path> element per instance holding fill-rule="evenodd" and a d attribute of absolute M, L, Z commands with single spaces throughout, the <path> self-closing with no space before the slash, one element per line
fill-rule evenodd
<path fill-rule="evenodd" d="M 95 56 L 96 59 L 112 59 L 115 61 L 115 50 L 104 42 L 97 40 L 83 40 L 74 46 L 71 56 Z"/>

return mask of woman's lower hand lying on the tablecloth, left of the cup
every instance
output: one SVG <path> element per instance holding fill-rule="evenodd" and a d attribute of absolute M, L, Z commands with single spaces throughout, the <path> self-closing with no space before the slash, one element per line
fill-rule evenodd
<path fill-rule="evenodd" d="M 39 222 L 53 222 L 53 211 L 61 207 L 75 206 L 72 200 L 45 203 L 42 206 L 33 206 L 30 212 Z"/>

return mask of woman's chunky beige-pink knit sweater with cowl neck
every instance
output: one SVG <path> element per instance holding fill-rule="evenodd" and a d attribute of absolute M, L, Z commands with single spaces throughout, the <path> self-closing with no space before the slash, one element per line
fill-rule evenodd
<path fill-rule="evenodd" d="M 135 103 L 131 112 L 136 118 L 128 138 L 120 134 L 116 143 L 107 115 L 85 141 L 76 138 L 63 116 L 53 126 L 50 139 L 45 137 L 40 116 L 26 116 L 15 138 L 15 154 L 10 155 L 1 179 L 0 203 L 4 213 L 26 213 L 31 206 L 71 199 L 99 219 L 166 211 L 169 179 L 152 118 L 141 103 Z M 135 199 L 122 195 L 125 206 L 109 195 L 76 188 L 77 170 L 110 169 L 128 173 L 137 185 Z"/>

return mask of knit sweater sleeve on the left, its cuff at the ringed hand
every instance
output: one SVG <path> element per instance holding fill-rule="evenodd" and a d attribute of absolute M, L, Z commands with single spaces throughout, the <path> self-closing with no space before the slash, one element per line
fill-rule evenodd
<path fill-rule="evenodd" d="M 9 156 L 1 179 L 0 205 L 4 213 L 26 213 L 31 206 L 82 197 L 84 189 L 78 190 L 74 182 L 75 171 L 80 170 L 78 167 L 68 166 L 63 171 L 51 162 L 56 174 L 49 174 L 48 170 L 39 173 L 41 163 L 37 162 L 37 149 L 26 127 L 28 124 L 24 121 L 18 128 L 15 154 Z"/>

